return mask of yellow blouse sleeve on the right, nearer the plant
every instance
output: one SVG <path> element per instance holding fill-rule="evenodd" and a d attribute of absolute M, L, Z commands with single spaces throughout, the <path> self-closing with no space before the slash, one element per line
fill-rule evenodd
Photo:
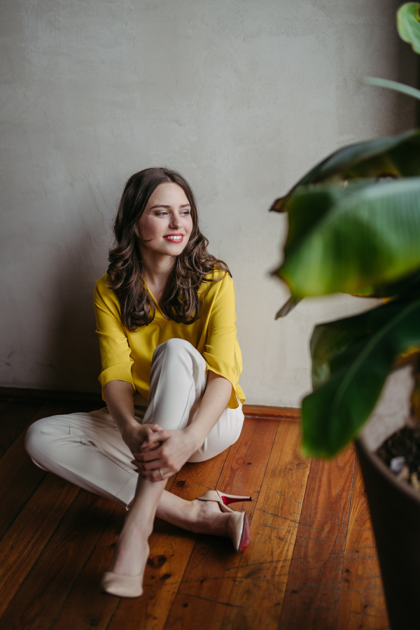
<path fill-rule="evenodd" d="M 215 372 L 232 383 L 228 407 L 236 409 L 238 402 L 235 388 L 241 375 L 237 357 L 235 289 L 229 274 L 218 282 L 218 293 L 211 308 L 207 330 L 207 343 L 203 353 L 207 370 Z"/>

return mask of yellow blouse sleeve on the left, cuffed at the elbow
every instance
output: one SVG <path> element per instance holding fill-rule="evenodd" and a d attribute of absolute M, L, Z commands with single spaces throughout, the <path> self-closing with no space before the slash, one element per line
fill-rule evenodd
<path fill-rule="evenodd" d="M 99 374 L 99 383 L 102 385 L 102 398 L 104 385 L 109 381 L 127 381 L 135 391 L 132 378 L 134 361 L 130 356 L 131 349 L 121 323 L 118 298 L 102 280 L 97 282 L 94 290 L 94 312 L 101 352 L 102 372 Z"/>

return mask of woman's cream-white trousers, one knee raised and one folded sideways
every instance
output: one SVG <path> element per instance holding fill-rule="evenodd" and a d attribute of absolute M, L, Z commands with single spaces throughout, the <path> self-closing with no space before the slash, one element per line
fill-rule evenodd
<path fill-rule="evenodd" d="M 169 339 L 153 353 L 147 409 L 137 406 L 142 397 L 134 395 L 137 421 L 164 429 L 185 428 L 197 413 L 206 385 L 206 362 L 201 354 L 183 339 Z M 189 461 L 206 461 L 230 447 L 243 423 L 240 402 L 237 409 L 225 409 Z M 124 507 L 134 497 L 139 473 L 106 407 L 34 422 L 27 430 L 25 448 L 39 468 L 87 491 Z"/>

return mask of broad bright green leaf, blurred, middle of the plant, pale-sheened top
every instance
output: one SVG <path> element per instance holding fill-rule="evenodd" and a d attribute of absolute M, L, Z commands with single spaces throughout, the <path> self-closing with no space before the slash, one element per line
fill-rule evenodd
<path fill-rule="evenodd" d="M 302 186 L 288 211 L 276 273 L 295 300 L 337 291 L 393 296 L 395 284 L 418 278 L 420 177 Z"/>

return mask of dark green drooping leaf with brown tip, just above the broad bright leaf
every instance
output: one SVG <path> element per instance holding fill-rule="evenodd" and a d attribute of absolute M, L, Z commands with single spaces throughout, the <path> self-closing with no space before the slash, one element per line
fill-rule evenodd
<path fill-rule="evenodd" d="M 351 179 L 384 179 L 420 175 L 420 130 L 398 136 L 350 144 L 335 151 L 311 169 L 270 210 L 288 211 L 297 188 L 314 183 L 340 183 Z"/>

